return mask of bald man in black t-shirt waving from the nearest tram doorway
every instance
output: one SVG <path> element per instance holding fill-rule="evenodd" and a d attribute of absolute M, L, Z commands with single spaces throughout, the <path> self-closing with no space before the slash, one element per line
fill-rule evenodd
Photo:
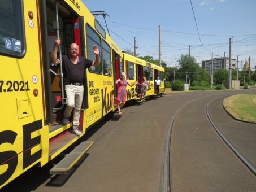
<path fill-rule="evenodd" d="M 56 38 L 53 51 L 50 55 L 51 63 L 53 64 L 60 63 L 60 60 L 57 58 L 57 50 L 60 43 L 60 39 Z M 93 46 L 92 51 L 95 54 L 95 59 L 93 61 L 79 56 L 79 46 L 76 43 L 72 43 L 69 47 L 68 55 L 62 55 L 63 82 L 67 97 L 67 106 L 64 111 L 63 124 L 70 123 L 68 117 L 70 117 L 73 110 L 73 133 L 77 136 L 82 133 L 79 130 L 79 118 L 84 96 L 83 84 L 86 74 L 85 70 L 86 68 L 90 68 L 90 66 L 98 66 L 100 62 L 97 45 Z"/>

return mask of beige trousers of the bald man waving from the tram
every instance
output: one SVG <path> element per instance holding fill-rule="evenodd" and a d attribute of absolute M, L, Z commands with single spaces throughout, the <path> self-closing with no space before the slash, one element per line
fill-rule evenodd
<path fill-rule="evenodd" d="M 80 110 L 83 102 L 84 86 L 65 85 L 67 106 L 64 117 L 69 117 L 73 111 L 73 129 L 79 128 Z"/>

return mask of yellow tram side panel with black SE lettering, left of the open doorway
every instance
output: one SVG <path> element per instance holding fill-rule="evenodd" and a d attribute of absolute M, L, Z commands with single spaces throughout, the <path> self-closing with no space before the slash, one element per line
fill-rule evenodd
<path fill-rule="evenodd" d="M 17 161 L 8 161 L 0 165 L 0 175 L 11 172 L 10 167 L 14 168 L 10 177 L 8 176 L 5 178 L 6 181 L 2 181 L 0 188 L 34 164 L 38 162 L 41 162 L 41 165 L 45 164 L 48 156 L 49 130 L 47 126 L 44 126 L 42 107 L 36 1 L 25 2 L 25 55 L 23 58 L 0 55 L 2 63 L 0 80 L 3 81 L 2 92 L 0 93 L 0 105 L 2 107 L 0 134 L 7 133 L 14 136 L 13 143 L 7 139 L 8 142 L 0 144 L 0 154 L 5 154 L 5 152 L 18 154 L 14 156 Z M 29 26 L 28 11 L 32 11 L 34 14 L 33 27 Z M 34 89 L 38 90 L 37 96 L 33 94 Z M 31 128 L 35 130 L 30 131 Z M 37 142 L 34 142 L 35 140 Z M 33 146 L 33 143 L 36 143 L 36 146 Z M 25 149 L 25 146 L 31 147 L 27 151 L 29 152 L 27 157 L 23 153 L 24 150 L 28 149 Z M 11 165 L 8 164 L 10 162 Z"/>

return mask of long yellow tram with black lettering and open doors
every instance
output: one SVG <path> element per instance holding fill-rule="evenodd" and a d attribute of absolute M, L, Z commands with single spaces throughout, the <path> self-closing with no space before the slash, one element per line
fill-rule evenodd
<path fill-rule="evenodd" d="M 34 165 L 43 166 L 80 139 L 98 120 L 115 110 L 115 80 L 121 72 L 131 82 L 143 76 L 152 84 L 164 69 L 122 53 L 105 29 L 80 0 L 2 0 L 0 2 L 0 189 Z M 58 30 L 56 30 L 58 29 Z M 85 93 L 80 115 L 81 136 L 63 125 L 65 98 L 61 68 L 50 63 L 56 37 L 67 54 L 70 43 L 80 46 L 81 56 L 93 60 L 92 45 L 101 63 L 86 69 Z M 127 100 L 137 91 L 127 88 Z M 164 84 L 159 94 L 164 93 Z M 154 85 L 146 96 L 156 95 Z M 92 146 L 84 143 L 81 154 Z M 65 169 L 66 173 L 77 156 Z"/>

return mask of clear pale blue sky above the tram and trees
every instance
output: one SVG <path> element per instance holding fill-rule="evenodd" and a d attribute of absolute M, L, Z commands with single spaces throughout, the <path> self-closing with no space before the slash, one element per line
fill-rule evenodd
<path fill-rule="evenodd" d="M 251 56 L 256 65 L 255 0 L 82 0 L 90 11 L 105 11 L 110 36 L 122 49 L 158 59 L 158 26 L 162 29 L 162 60 L 168 66 L 177 64 L 181 54 L 201 60 L 229 56 L 229 38 L 233 38 L 232 58 L 239 68 Z M 194 15 L 193 15 L 193 10 Z M 196 21 L 194 19 L 196 18 Z M 102 16 L 98 21 L 105 25 Z M 197 28 L 198 27 L 198 28 Z M 199 34 L 198 34 L 199 32 Z"/>

